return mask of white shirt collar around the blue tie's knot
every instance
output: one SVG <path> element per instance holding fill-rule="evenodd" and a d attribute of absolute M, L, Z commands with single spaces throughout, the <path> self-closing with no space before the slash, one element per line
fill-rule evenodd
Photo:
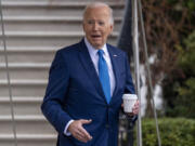
<path fill-rule="evenodd" d="M 84 43 L 86 43 L 86 45 L 87 45 L 88 51 L 89 51 L 90 54 L 92 54 L 92 55 L 96 55 L 96 54 L 98 54 L 98 51 L 99 51 L 99 50 L 95 49 L 95 48 L 93 48 L 86 37 L 84 37 Z M 103 48 L 102 48 L 101 50 L 104 51 L 104 55 L 105 55 L 105 56 L 108 55 L 108 51 L 107 51 L 107 45 L 106 45 L 106 43 L 103 45 Z"/>

